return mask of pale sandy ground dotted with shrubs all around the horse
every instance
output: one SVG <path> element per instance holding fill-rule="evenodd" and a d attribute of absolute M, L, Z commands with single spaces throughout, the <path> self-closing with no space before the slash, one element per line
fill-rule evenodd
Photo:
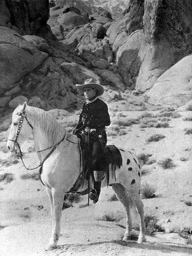
<path fill-rule="evenodd" d="M 6 150 L 8 130 L 0 133 L 0 175 L 13 174 L 13 180 L 0 182 L 0 255 L 192 255 L 192 245 L 179 232 L 186 229 L 192 234 L 192 172 L 191 135 L 185 129 L 191 128 L 192 112 L 179 111 L 176 118 L 170 117 L 168 128 L 143 126 L 152 119 L 159 123 L 165 107 L 153 107 L 145 103 L 143 97 L 122 95 L 126 100 L 108 102 L 112 124 L 108 128 L 108 144 L 133 149 L 140 154 L 149 155 L 149 161 L 142 165 L 142 184 L 154 187 L 154 198 L 143 199 L 145 215 L 155 216 L 158 224 L 165 230 L 154 236 L 147 235 L 147 242 L 139 245 L 135 241 L 122 242 L 126 224 L 124 209 L 119 201 L 110 201 L 112 189 L 103 188 L 96 205 L 84 206 L 87 196 L 79 203 L 63 211 L 61 238 L 58 248 L 45 252 L 51 234 L 50 206 L 45 188 L 39 180 L 24 179 L 29 174 L 20 160 Z M 164 111 L 164 112 L 162 112 Z M 54 114 L 57 120 L 70 130 L 77 114 Z M 142 115 L 154 116 L 143 118 Z M 164 116 L 165 118 L 165 116 Z M 138 120 L 126 126 L 125 122 Z M 161 134 L 165 138 L 158 142 L 147 142 L 152 135 Z M 33 140 L 22 147 L 27 166 L 38 163 L 33 150 Z M 159 164 L 165 158 L 172 159 L 175 166 L 163 169 Z M 36 170 L 30 171 L 36 173 Z M 82 207 L 84 206 L 84 207 Z M 107 221 L 106 215 L 113 221 Z M 135 224 L 138 222 L 133 213 Z M 136 231 L 135 231 L 136 232 Z"/>

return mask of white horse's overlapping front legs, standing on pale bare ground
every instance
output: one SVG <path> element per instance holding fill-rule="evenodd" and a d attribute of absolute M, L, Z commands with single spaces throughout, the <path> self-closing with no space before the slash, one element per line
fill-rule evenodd
<path fill-rule="evenodd" d="M 47 250 L 53 250 L 57 248 L 57 242 L 60 236 L 60 221 L 62 206 L 64 201 L 64 191 L 61 189 L 52 189 L 52 236 L 50 238 L 50 243 L 48 244 Z"/>

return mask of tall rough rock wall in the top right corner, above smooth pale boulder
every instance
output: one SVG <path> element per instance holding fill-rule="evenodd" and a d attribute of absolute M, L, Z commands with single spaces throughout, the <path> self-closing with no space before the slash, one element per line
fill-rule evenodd
<path fill-rule="evenodd" d="M 145 40 L 139 53 L 142 65 L 136 81 L 138 90 L 152 88 L 158 76 L 192 52 L 191 14 L 188 0 L 145 1 Z"/>

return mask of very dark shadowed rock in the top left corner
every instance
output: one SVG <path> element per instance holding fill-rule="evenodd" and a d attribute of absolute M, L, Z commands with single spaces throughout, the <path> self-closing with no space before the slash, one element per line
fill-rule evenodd
<path fill-rule="evenodd" d="M 1 0 L 0 22 L 20 34 L 45 35 L 50 33 L 48 0 Z"/>

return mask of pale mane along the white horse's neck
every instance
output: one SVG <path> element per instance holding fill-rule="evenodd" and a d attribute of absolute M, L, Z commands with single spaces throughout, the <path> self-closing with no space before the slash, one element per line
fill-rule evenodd
<path fill-rule="evenodd" d="M 45 110 L 27 105 L 26 113 L 29 121 L 43 130 L 52 143 L 58 142 L 66 134 L 66 129 Z"/>

